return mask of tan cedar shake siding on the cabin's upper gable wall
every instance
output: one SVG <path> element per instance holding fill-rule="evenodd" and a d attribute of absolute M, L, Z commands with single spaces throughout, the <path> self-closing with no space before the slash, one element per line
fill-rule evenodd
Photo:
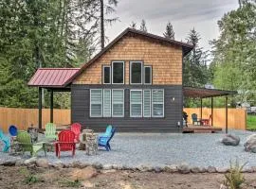
<path fill-rule="evenodd" d="M 136 35 L 125 35 L 101 57 L 88 66 L 73 84 L 102 84 L 102 65 L 111 65 L 112 60 L 125 61 L 124 84 L 129 84 L 131 60 L 141 60 L 144 66 L 153 67 L 153 85 L 182 85 L 182 47 L 176 44 L 159 43 Z"/>

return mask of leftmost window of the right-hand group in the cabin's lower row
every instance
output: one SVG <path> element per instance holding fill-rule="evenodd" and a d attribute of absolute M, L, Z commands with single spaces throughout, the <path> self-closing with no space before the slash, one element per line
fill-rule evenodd
<path fill-rule="evenodd" d="M 130 116 L 142 117 L 142 90 L 130 91 Z"/>

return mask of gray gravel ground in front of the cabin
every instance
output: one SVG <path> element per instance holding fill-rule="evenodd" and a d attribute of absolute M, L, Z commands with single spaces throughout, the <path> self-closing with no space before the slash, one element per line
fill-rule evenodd
<path fill-rule="evenodd" d="M 165 166 L 168 164 L 189 163 L 191 166 L 229 167 L 230 160 L 238 159 L 247 166 L 256 166 L 256 154 L 244 151 L 249 131 L 230 130 L 229 133 L 240 137 L 239 146 L 224 146 L 220 143 L 224 133 L 215 134 L 179 134 L 179 133 L 118 133 L 114 136 L 112 151 L 99 150 L 96 156 L 87 156 L 84 151 L 76 150 L 74 158 L 71 152 L 62 152 L 61 159 L 55 153 L 48 152 L 50 163 L 102 163 L 135 167 L 139 165 Z M 39 153 L 44 157 L 44 153 Z M 0 163 L 19 159 L 0 152 Z M 23 156 L 22 158 L 29 158 Z"/>

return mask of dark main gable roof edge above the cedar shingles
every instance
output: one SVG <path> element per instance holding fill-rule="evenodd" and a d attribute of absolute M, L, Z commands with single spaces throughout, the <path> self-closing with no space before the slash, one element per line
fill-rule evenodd
<path fill-rule="evenodd" d="M 70 77 L 69 79 L 66 80 L 65 85 L 68 85 L 70 82 L 72 82 L 76 77 L 80 76 L 82 74 L 82 72 L 89 67 L 92 63 L 94 63 L 96 60 L 98 60 L 99 58 L 101 58 L 101 56 L 108 51 L 114 44 L 118 43 L 119 40 L 121 38 L 123 38 L 125 35 L 127 35 L 128 33 L 136 35 L 136 36 L 142 36 L 142 37 L 146 37 L 149 39 L 154 39 L 158 42 L 161 43 L 169 43 L 169 44 L 174 44 L 174 45 L 178 45 L 182 47 L 182 51 L 183 51 L 183 57 L 185 57 L 186 55 L 188 55 L 192 49 L 193 49 L 193 45 L 188 44 L 188 43 L 182 43 L 182 42 L 177 42 L 174 40 L 170 40 L 161 36 L 157 36 L 151 33 L 147 33 L 144 31 L 140 31 L 137 29 L 133 29 L 128 27 L 127 29 L 125 29 L 122 33 L 119 34 L 119 36 L 113 40 L 111 43 L 109 43 L 107 46 L 105 46 L 100 53 L 98 53 L 93 59 L 89 60 L 87 63 L 84 63 L 81 67 L 81 69 L 72 77 Z"/>

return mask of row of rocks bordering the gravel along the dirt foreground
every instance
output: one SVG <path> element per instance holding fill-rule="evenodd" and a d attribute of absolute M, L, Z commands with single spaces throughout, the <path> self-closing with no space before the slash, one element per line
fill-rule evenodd
<path fill-rule="evenodd" d="M 58 163 L 48 163 L 46 159 L 40 158 L 37 159 L 36 157 L 27 159 L 27 160 L 11 160 L 6 161 L 4 163 L 0 163 L 0 165 L 4 166 L 14 166 L 14 165 L 25 165 L 25 166 L 37 166 L 42 168 L 85 168 L 87 166 L 93 166 L 97 170 L 101 172 L 111 172 L 111 170 L 129 170 L 129 171 L 139 171 L 139 172 L 167 172 L 167 173 L 180 173 L 180 174 L 196 174 L 196 173 L 228 173 L 229 168 L 223 168 L 223 167 L 214 167 L 214 166 L 208 166 L 208 167 L 197 167 L 197 166 L 190 166 L 187 163 L 181 163 L 181 164 L 171 164 L 166 165 L 164 167 L 160 166 L 151 166 L 151 165 L 139 165 L 135 167 L 129 167 L 129 166 L 120 166 L 117 164 L 101 164 L 101 163 L 80 163 L 80 162 L 74 162 L 74 163 L 68 163 L 64 164 L 61 161 Z M 252 166 L 250 168 L 245 168 L 242 171 L 243 173 L 255 173 L 256 172 L 256 166 Z"/>

